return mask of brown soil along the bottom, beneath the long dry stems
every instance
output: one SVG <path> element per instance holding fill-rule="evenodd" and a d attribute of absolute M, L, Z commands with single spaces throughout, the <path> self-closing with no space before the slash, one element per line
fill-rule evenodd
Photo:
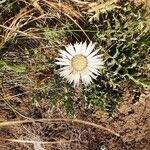
<path fill-rule="evenodd" d="M 60 109 L 50 109 L 48 102 L 41 101 L 40 107 L 33 109 L 27 96 L 10 99 L 11 105 L 33 118 L 67 118 Z M 28 107 L 27 107 L 28 105 Z M 22 120 L 19 115 L 0 103 L 0 120 Z M 31 109 L 32 108 L 32 109 Z M 81 109 L 78 107 L 78 109 Z M 31 111 L 32 110 L 32 111 Z M 0 127 L 0 150 L 149 150 L 150 149 L 150 97 L 149 91 L 140 96 L 126 93 L 125 100 L 117 112 L 109 117 L 96 109 L 77 111 L 76 118 L 96 123 L 115 131 L 99 129 L 80 122 L 25 123 Z M 48 144 L 6 141 L 56 142 Z"/>

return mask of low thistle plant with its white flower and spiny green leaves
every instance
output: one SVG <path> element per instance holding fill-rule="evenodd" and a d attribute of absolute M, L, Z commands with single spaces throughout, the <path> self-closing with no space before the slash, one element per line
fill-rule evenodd
<path fill-rule="evenodd" d="M 83 26 L 96 45 L 82 41 L 66 46 L 66 50 L 58 50 L 58 66 L 54 67 L 57 73 L 44 91 L 54 102 L 62 100 L 68 113 L 74 112 L 74 97 L 80 81 L 84 84 L 80 100 L 84 100 L 85 106 L 97 106 L 109 115 L 122 102 L 126 89 L 149 88 L 150 32 L 144 6 L 121 1 L 113 4 L 109 11 L 96 13 L 94 19 L 91 14 L 85 16 L 89 22 Z"/>

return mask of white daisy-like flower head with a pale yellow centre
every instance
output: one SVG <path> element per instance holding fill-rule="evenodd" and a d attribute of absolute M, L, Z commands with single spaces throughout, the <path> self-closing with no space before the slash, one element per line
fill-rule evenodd
<path fill-rule="evenodd" d="M 74 82 L 74 86 L 78 86 L 80 80 L 84 85 L 92 83 L 92 78 L 96 79 L 104 65 L 102 55 L 98 55 L 99 50 L 93 51 L 94 47 L 95 43 L 80 42 L 59 50 L 60 58 L 56 58 L 56 64 L 61 66 L 60 76 Z"/>

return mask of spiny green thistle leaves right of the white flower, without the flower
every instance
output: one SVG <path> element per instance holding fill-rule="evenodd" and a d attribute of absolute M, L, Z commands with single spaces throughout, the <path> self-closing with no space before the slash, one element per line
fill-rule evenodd
<path fill-rule="evenodd" d="M 114 9 L 99 12 L 91 21 L 90 29 L 97 31 L 93 36 L 106 61 L 98 81 L 85 89 L 86 102 L 96 103 L 108 112 L 115 110 L 124 88 L 150 87 L 150 31 L 145 23 L 146 8 L 129 1 L 115 5 Z"/>

